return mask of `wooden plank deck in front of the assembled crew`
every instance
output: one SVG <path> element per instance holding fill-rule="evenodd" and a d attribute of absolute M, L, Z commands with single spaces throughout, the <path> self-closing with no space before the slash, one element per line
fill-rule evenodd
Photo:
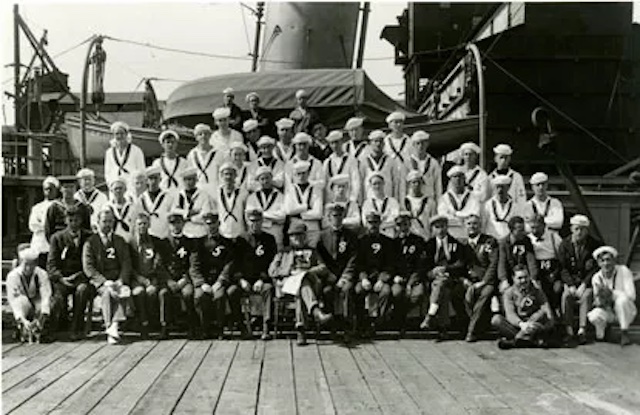
<path fill-rule="evenodd" d="M 5 344 L 8 414 L 640 413 L 640 346 L 494 342 Z"/>

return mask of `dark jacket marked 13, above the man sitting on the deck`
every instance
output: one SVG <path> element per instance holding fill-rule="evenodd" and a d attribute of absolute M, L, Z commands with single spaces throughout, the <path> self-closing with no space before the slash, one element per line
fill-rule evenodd
<path fill-rule="evenodd" d="M 538 262 L 536 261 L 533 245 L 529 238 L 514 241 L 511 234 L 498 241 L 498 279 L 512 282 L 513 268 L 524 265 L 529 270 L 532 280 L 538 279 Z"/>

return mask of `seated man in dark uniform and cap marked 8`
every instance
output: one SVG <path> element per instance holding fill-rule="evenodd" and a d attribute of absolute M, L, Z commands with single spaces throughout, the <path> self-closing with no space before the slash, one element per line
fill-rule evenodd
<path fill-rule="evenodd" d="M 358 237 L 354 231 L 343 224 L 346 213 L 344 204 L 330 203 L 325 209 L 329 226 L 322 231 L 318 242 L 318 255 L 330 274 L 329 284 L 324 287 L 324 300 L 333 311 L 332 294 L 334 290 L 338 291 L 345 337 L 348 340 L 355 330 L 353 284 Z"/>

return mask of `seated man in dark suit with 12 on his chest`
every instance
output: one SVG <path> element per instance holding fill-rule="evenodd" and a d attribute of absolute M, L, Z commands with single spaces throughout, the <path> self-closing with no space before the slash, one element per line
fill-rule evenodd
<path fill-rule="evenodd" d="M 470 251 L 469 284 L 464 296 L 469 316 L 467 342 L 477 340 L 476 327 L 483 314 L 490 311 L 489 300 L 498 281 L 498 242 L 493 236 L 480 232 L 480 223 L 477 215 L 469 215 L 465 220 Z"/>

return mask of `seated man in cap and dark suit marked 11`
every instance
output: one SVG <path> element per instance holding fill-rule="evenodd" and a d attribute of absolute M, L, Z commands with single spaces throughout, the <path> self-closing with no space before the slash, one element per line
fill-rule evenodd
<path fill-rule="evenodd" d="M 458 317 L 465 316 L 464 298 L 469 274 L 464 245 L 449 234 L 449 219 L 436 215 L 429 221 L 431 239 L 426 246 L 426 269 L 431 282 L 429 311 L 420 324 L 421 329 L 438 329 L 438 340 L 448 338 L 449 303 Z"/>

